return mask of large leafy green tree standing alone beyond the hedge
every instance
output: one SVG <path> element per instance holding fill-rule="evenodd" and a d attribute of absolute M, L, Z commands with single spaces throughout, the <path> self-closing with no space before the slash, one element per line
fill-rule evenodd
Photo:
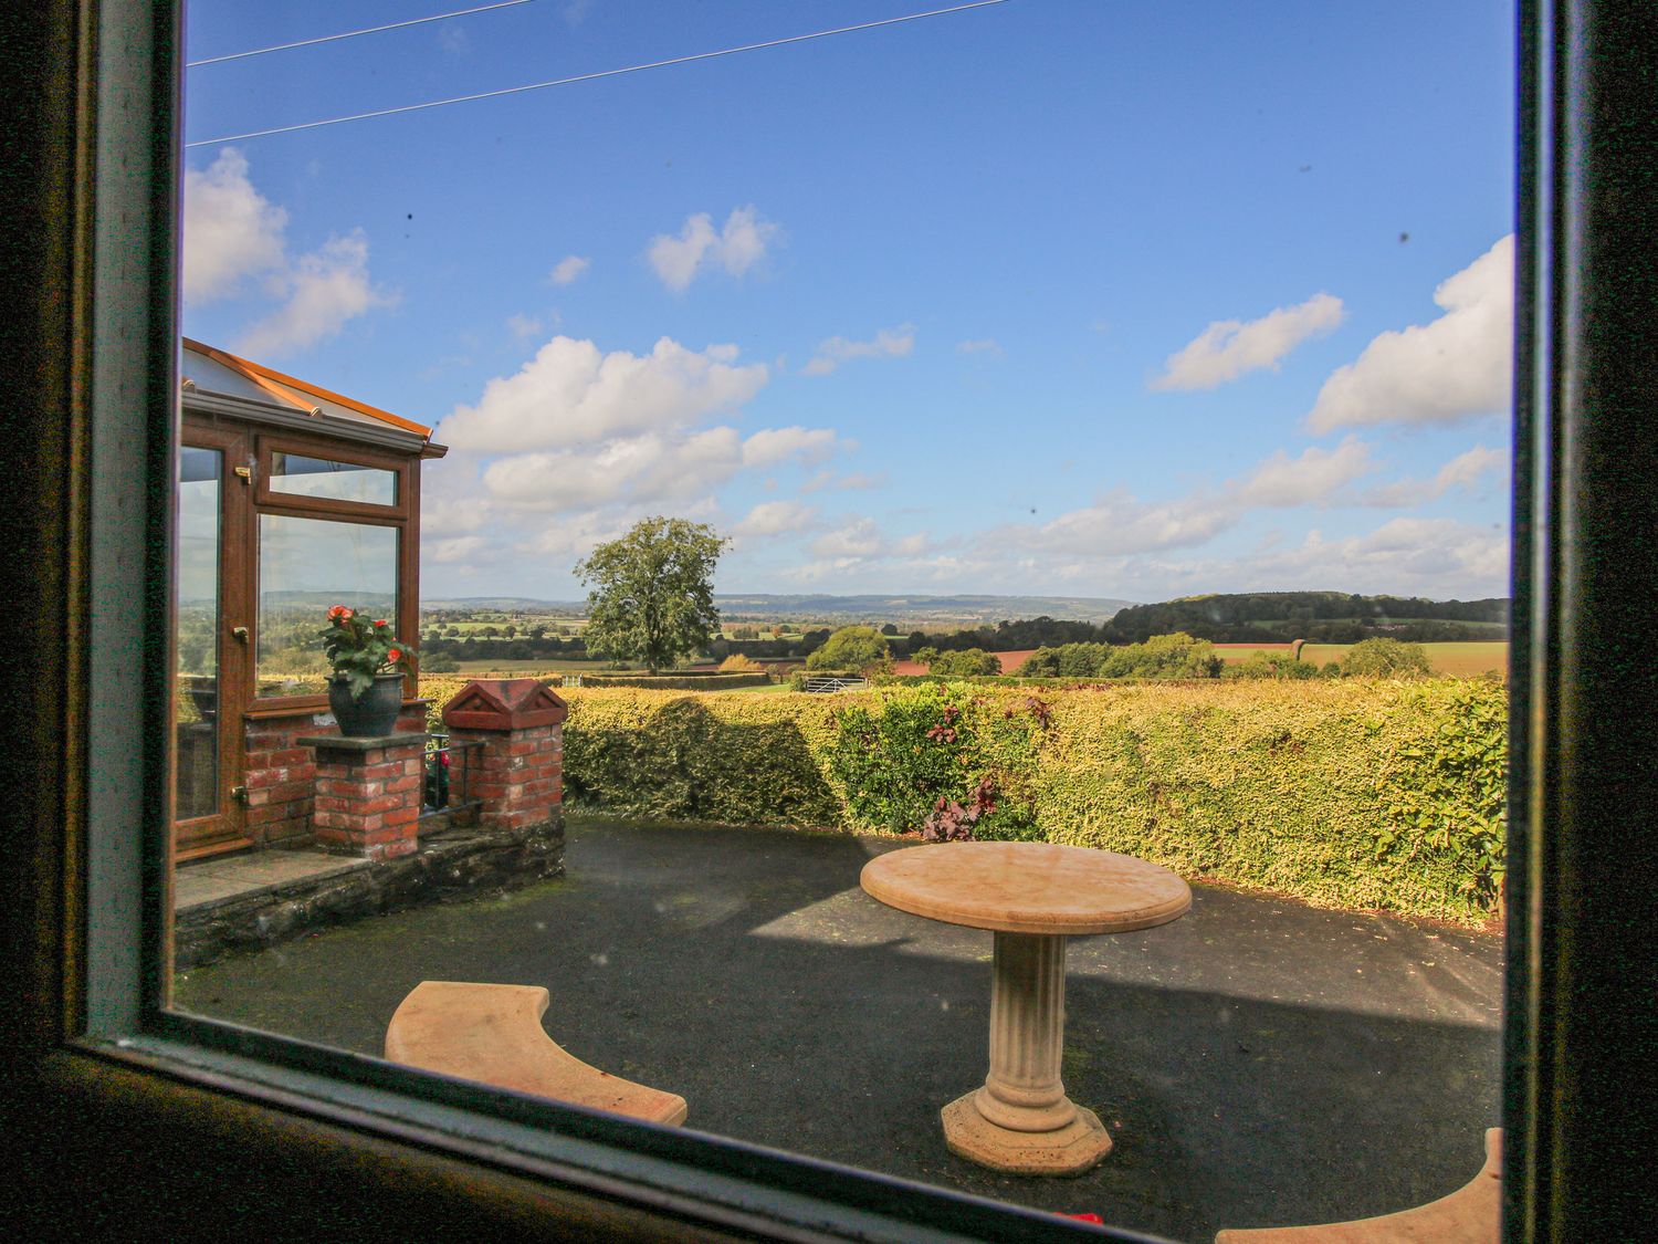
<path fill-rule="evenodd" d="M 715 562 L 723 536 L 703 522 L 648 518 L 575 564 L 587 594 L 590 652 L 643 660 L 650 672 L 673 665 L 720 630 Z"/>

